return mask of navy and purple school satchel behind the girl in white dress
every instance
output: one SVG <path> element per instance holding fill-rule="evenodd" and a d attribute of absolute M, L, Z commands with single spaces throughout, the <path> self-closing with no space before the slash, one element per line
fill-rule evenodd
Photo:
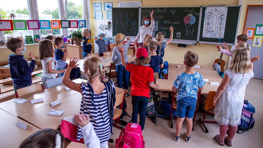
<path fill-rule="evenodd" d="M 241 134 L 254 127 L 255 118 L 253 114 L 255 114 L 255 107 L 250 103 L 244 104 L 240 119 L 241 124 L 237 126 L 237 134 Z M 242 130 L 242 132 L 239 132 L 239 130 Z"/>

